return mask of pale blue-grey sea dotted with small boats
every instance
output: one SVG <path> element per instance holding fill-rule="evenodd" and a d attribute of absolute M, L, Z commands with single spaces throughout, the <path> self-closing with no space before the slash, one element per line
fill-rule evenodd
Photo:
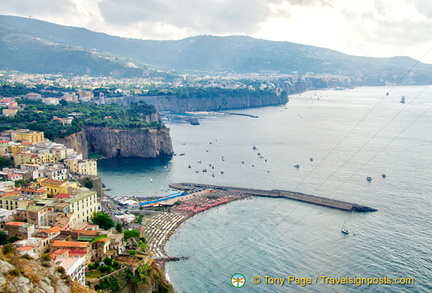
<path fill-rule="evenodd" d="M 166 265 L 176 292 L 431 292 L 431 108 L 426 86 L 308 91 L 227 111 L 258 118 L 168 121 L 175 156 L 100 160 L 98 170 L 109 195 L 164 196 L 170 183 L 193 182 L 378 210 L 248 198 L 198 214 L 166 245 L 188 257 Z"/>

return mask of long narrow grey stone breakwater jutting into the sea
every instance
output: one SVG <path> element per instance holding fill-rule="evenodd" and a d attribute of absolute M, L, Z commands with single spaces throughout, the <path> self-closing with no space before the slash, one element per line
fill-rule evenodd
<path fill-rule="evenodd" d="M 170 185 L 171 188 L 179 189 L 179 190 L 195 190 L 195 189 L 215 189 L 215 190 L 225 190 L 231 192 L 239 192 L 243 194 L 248 194 L 252 196 L 260 196 L 260 197 L 270 197 L 270 198 L 287 198 L 293 199 L 297 201 L 307 202 L 315 205 L 325 206 L 329 208 L 344 210 L 344 211 L 352 211 L 352 212 L 375 212 L 377 209 L 362 206 L 356 203 L 350 203 L 346 201 L 331 199 L 328 197 L 315 196 L 300 192 L 293 192 L 287 190 L 261 190 L 261 189 L 252 189 L 252 188 L 241 188 L 241 187 L 229 187 L 229 186 L 219 186 L 219 185 L 211 185 L 211 184 L 199 184 L 199 183 L 174 183 Z"/>

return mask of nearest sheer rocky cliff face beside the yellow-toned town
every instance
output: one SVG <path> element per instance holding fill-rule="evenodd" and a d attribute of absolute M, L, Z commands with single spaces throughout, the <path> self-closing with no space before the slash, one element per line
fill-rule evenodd
<path fill-rule="evenodd" d="M 81 132 L 65 138 L 68 147 L 82 152 L 97 153 L 106 158 L 156 158 L 172 155 L 169 129 L 110 129 L 86 126 Z"/>

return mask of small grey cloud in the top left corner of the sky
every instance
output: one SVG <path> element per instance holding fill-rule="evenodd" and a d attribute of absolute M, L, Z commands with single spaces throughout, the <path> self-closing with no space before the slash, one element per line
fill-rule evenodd
<path fill-rule="evenodd" d="M 73 0 L 2 0 L 1 13 L 35 17 L 65 15 L 76 10 L 74 2 Z"/>

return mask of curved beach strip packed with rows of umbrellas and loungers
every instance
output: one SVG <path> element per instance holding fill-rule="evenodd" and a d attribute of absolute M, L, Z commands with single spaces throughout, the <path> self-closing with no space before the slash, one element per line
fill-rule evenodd
<path fill-rule="evenodd" d="M 169 212 L 152 216 L 142 227 L 149 255 L 163 270 L 168 261 L 186 259 L 187 256 L 169 256 L 165 251 L 167 241 L 183 222 L 211 208 L 250 197 L 241 192 L 206 189 L 164 202 Z"/>

